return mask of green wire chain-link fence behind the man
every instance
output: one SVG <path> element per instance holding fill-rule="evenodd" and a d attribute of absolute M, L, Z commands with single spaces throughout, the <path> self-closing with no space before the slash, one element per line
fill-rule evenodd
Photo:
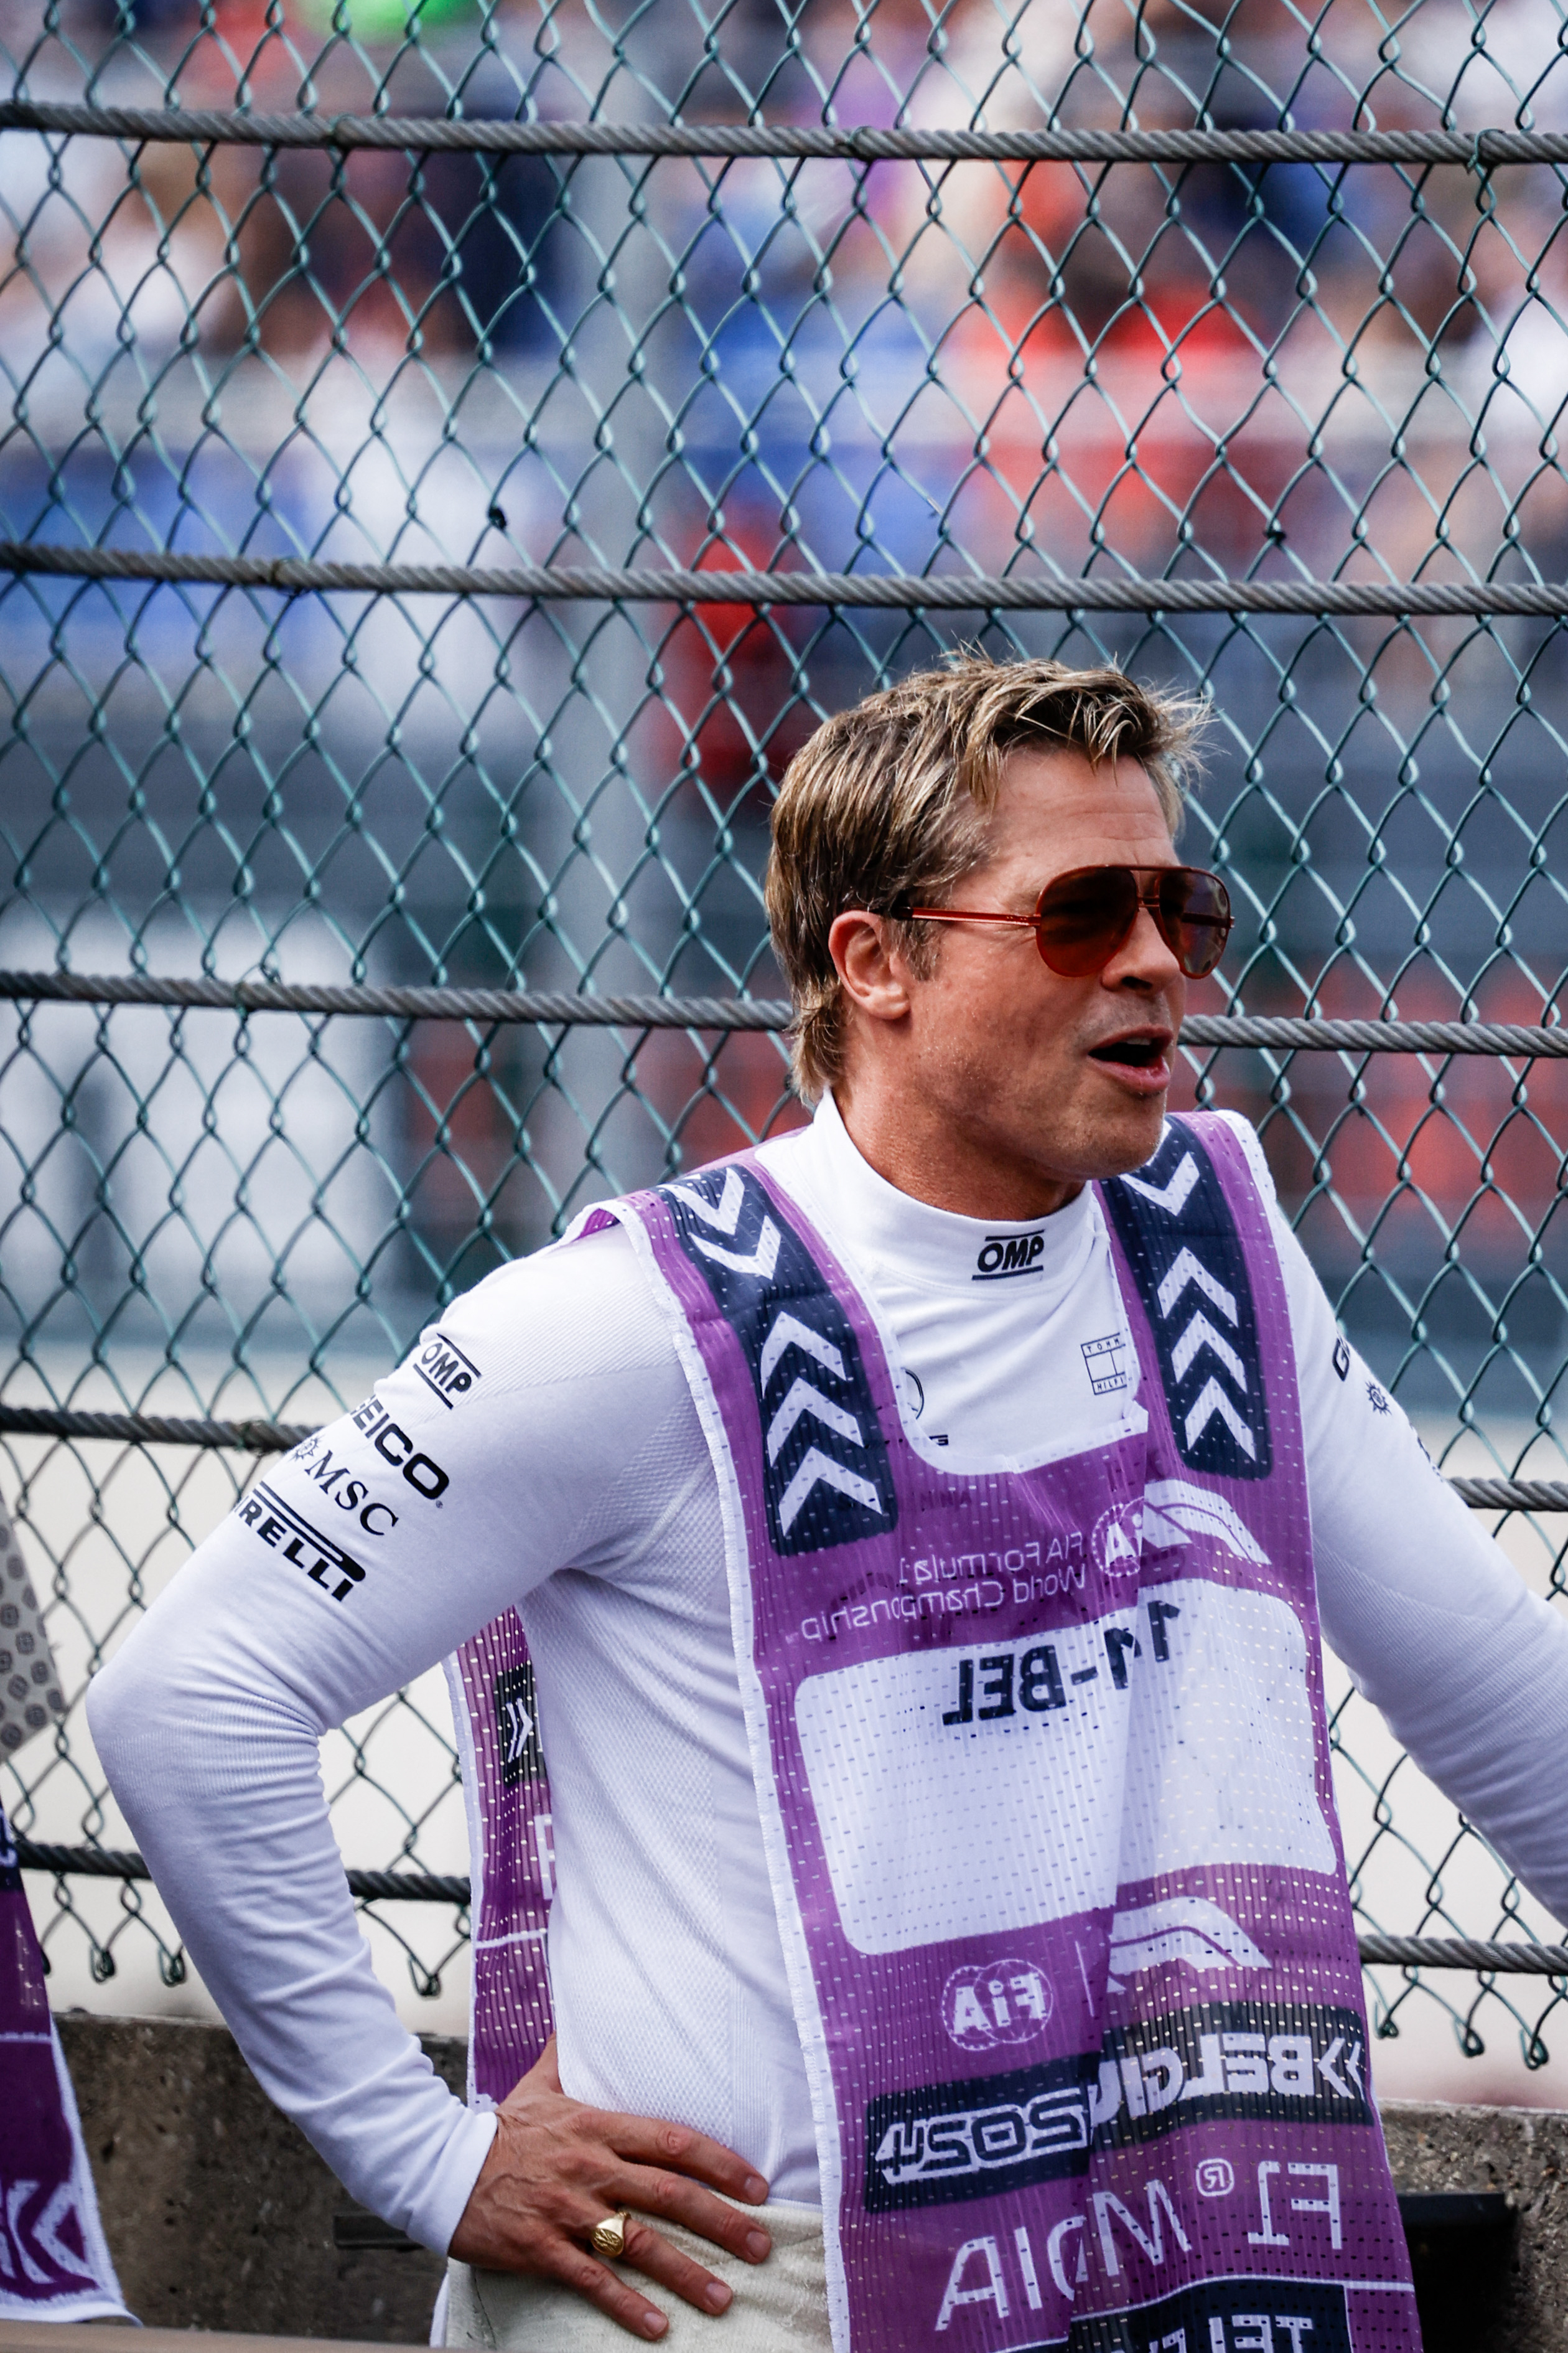
<path fill-rule="evenodd" d="M 0 1428 L 68 1697 L 0 1779 L 71 1849 L 56 1972 L 127 2007 L 183 1967 L 92 1668 L 275 1424 L 799 1115 L 766 1007 L 684 1000 L 778 993 L 783 762 L 957 640 L 1213 694 L 1190 842 L 1239 922 L 1190 1094 L 1258 1118 L 1441 1466 L 1563 1478 L 1556 0 L 0 31 Z M 1568 1489 L 1467 1494 L 1556 1598 Z M 1556 1934 L 1352 1694 L 1335 1727 L 1368 1934 Z M 461 1875 L 428 1682 L 327 1769 L 350 1864 Z M 451 1979 L 451 1889 L 367 1901 Z M 1385 2031 L 1441 2005 L 1526 2066 L 1566 1991 L 1375 1972 Z"/>

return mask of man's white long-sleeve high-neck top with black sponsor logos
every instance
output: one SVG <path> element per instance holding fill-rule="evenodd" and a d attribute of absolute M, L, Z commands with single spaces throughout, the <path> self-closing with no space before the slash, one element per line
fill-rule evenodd
<path fill-rule="evenodd" d="M 1241 1134 L 1260 1186 L 1258 1139 Z M 832 1101 L 764 1148 L 875 1294 L 954 1471 L 1088 1449 L 1138 1381 L 1093 1191 L 1001 1226 L 910 1200 Z M 1436 1478 L 1340 1341 L 1279 1214 L 1324 1631 L 1418 1765 L 1568 1918 L 1568 1626 Z M 976 1282 L 1001 1235 L 1027 1273 Z M 985 1264 L 994 1264 L 992 1257 Z M 346 2188 L 444 2249 L 494 2132 L 376 1984 L 317 1741 L 520 1605 L 555 1812 L 550 1974 L 564 2087 L 698 2125 L 780 2198 L 816 2146 L 748 1762 L 719 1494 L 670 1325 L 628 1240 L 489 1275 L 357 1414 L 266 1482 L 336 1529 L 230 1515 L 96 1678 L 89 1720 L 186 1946 L 263 2087 Z M 266 1529 L 273 1529 L 270 1541 Z"/>

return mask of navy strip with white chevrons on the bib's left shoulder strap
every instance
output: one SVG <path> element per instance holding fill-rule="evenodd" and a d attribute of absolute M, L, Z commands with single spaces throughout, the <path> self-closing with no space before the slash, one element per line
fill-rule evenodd
<path fill-rule="evenodd" d="M 658 1195 L 745 1355 L 776 1553 L 823 1553 L 898 1522 L 860 1346 L 816 1259 L 755 1176 L 708 1169 Z"/>

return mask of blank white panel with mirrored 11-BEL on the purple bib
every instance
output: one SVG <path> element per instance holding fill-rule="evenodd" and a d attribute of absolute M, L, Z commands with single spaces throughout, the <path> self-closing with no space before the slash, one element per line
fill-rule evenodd
<path fill-rule="evenodd" d="M 860 1953 L 1063 1920 L 1204 1864 L 1335 1871 L 1307 1642 L 1269 1593 L 1147 1586 L 1048 1638 L 809 1675 L 795 1718 Z"/>

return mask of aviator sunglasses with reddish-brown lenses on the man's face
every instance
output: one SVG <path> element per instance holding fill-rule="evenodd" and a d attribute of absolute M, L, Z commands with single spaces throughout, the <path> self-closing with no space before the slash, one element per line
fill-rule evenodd
<path fill-rule="evenodd" d="M 1201 866 L 1074 866 L 1046 882 L 1032 915 L 997 915 L 973 906 L 900 906 L 917 922 L 1013 922 L 1034 932 L 1041 962 L 1067 981 L 1105 972 L 1147 906 L 1166 948 L 1190 981 L 1225 955 L 1229 892 Z"/>

